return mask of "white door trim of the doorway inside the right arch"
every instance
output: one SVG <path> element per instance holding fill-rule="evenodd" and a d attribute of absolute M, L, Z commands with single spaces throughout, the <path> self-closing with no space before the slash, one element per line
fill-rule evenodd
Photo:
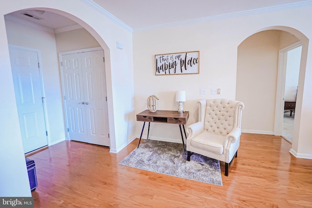
<path fill-rule="evenodd" d="M 280 136 L 283 132 L 283 109 L 285 100 L 285 81 L 286 81 L 286 65 L 287 52 L 301 46 L 301 41 L 295 42 L 279 50 L 278 55 L 278 72 L 277 72 L 277 86 L 276 86 L 276 101 L 275 101 L 275 120 L 274 120 L 274 135 Z"/>

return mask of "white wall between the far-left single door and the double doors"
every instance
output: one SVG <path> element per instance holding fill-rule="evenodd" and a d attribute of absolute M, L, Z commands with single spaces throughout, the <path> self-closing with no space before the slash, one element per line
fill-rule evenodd
<path fill-rule="evenodd" d="M 9 44 L 40 50 L 49 144 L 63 141 L 65 130 L 55 35 L 11 20 L 6 20 L 5 25 Z"/>

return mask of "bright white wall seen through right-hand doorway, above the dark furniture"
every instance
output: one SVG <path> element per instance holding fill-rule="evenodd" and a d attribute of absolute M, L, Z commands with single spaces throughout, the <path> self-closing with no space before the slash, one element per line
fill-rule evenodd
<path fill-rule="evenodd" d="M 287 52 L 285 100 L 296 100 L 299 79 L 301 46 Z"/>

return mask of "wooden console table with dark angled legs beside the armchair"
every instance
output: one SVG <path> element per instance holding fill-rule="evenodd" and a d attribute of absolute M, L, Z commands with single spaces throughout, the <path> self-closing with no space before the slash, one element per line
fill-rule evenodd
<path fill-rule="evenodd" d="M 150 112 L 149 110 L 145 110 L 141 113 L 137 114 L 137 121 L 144 121 L 143 127 L 142 127 L 142 132 L 140 135 L 140 140 L 138 141 L 137 148 L 140 145 L 141 138 L 142 138 L 142 133 L 144 130 L 145 122 L 148 122 L 148 132 L 147 132 L 147 139 L 148 135 L 150 133 L 150 124 L 151 122 L 156 122 L 156 123 L 168 123 L 168 124 L 178 124 L 180 127 L 180 132 L 181 132 L 181 138 L 182 138 L 182 143 L 183 143 L 183 149 L 185 151 L 185 146 L 184 146 L 184 139 L 183 139 L 183 133 L 181 129 L 181 125 L 183 126 L 183 131 L 186 139 L 186 132 L 184 128 L 184 124 L 186 124 L 187 120 L 189 119 L 189 112 L 183 112 L 179 113 L 177 111 L 156 111 L 156 112 Z"/>

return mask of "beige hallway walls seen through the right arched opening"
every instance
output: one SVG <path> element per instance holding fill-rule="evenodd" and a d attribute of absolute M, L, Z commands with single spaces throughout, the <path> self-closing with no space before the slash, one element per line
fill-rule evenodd
<path fill-rule="evenodd" d="M 298 146 L 298 131 L 296 130 L 300 126 L 308 38 L 290 27 L 264 28 L 240 43 L 237 56 L 236 99 L 245 100 L 248 106 L 243 115 L 245 118 L 242 129 L 247 129 L 252 133 L 281 135 L 276 133 L 277 129 L 282 128 L 284 107 L 284 96 L 281 93 L 282 82 L 278 78 L 279 51 L 297 43 L 302 44 L 302 53 L 292 149 Z M 252 71 L 253 73 L 249 74 Z"/>

